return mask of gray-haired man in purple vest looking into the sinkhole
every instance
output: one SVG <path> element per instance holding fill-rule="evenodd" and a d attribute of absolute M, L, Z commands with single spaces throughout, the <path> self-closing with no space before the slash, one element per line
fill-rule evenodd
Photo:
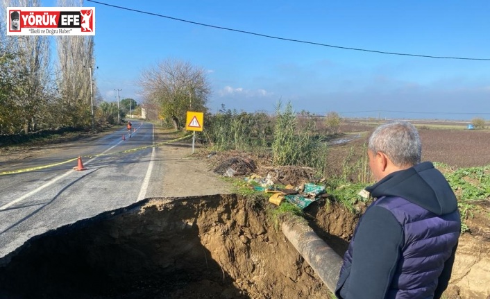
<path fill-rule="evenodd" d="M 335 295 L 342 299 L 441 298 L 451 276 L 461 221 L 446 178 L 421 163 L 412 124 L 379 126 L 369 139 L 375 201 L 355 228 Z"/>

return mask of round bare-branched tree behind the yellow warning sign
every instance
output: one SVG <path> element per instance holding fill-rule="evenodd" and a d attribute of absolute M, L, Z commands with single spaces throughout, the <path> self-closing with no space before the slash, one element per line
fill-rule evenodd
<path fill-rule="evenodd" d="M 149 67 L 140 77 L 146 101 L 158 105 L 159 115 L 170 119 L 174 128 L 185 125 L 187 110 L 207 112 L 211 94 L 206 72 L 189 62 L 164 60 Z"/>

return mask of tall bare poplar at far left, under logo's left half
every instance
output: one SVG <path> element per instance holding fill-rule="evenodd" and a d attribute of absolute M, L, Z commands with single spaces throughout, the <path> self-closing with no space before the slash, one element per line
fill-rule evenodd
<path fill-rule="evenodd" d="M 6 19 L 9 6 L 40 6 L 40 1 L 4 0 L 2 4 L 1 17 Z M 49 37 L 12 36 L 8 38 L 8 42 L 10 52 L 15 53 L 12 71 L 22 78 L 16 92 L 12 92 L 11 96 L 15 105 L 22 108 L 24 132 L 28 133 L 35 129 L 37 120 L 42 117 L 42 112 L 47 105 L 45 87 L 49 84 Z"/>

